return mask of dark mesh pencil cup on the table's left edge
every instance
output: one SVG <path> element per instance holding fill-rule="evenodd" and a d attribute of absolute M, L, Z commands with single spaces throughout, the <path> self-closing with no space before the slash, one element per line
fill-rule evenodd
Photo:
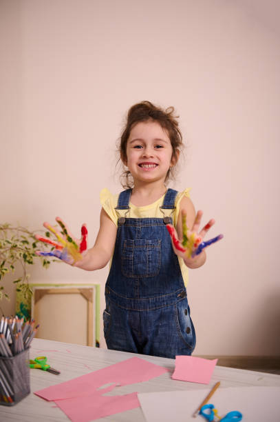
<path fill-rule="evenodd" d="M 12 357 L 0 356 L 0 405 L 15 405 L 28 394 L 30 394 L 29 348 Z"/>

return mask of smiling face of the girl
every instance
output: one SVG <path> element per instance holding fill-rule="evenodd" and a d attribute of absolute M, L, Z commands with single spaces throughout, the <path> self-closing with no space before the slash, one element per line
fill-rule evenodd
<path fill-rule="evenodd" d="M 143 121 L 131 129 L 127 140 L 125 165 L 136 181 L 164 183 L 169 168 L 175 164 L 168 132 L 156 121 Z"/>

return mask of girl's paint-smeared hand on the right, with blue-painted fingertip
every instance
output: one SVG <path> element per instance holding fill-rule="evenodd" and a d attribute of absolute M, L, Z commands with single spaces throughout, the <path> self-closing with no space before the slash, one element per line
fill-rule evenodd
<path fill-rule="evenodd" d="M 197 212 L 193 227 L 190 229 L 186 223 L 186 212 L 182 211 L 182 239 L 178 238 L 177 231 L 173 225 L 166 225 L 166 228 L 171 236 L 173 250 L 178 257 L 182 257 L 184 259 L 186 265 L 192 265 L 205 248 L 224 237 L 222 234 L 219 234 L 219 236 L 213 237 L 213 239 L 205 242 L 203 241 L 206 233 L 215 223 L 215 220 L 211 219 L 208 221 L 208 223 L 204 225 L 204 228 L 198 232 L 202 220 L 202 214 L 202 211 Z"/>

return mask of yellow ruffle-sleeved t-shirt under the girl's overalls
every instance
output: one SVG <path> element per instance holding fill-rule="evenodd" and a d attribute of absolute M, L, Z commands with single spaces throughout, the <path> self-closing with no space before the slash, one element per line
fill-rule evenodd
<path fill-rule="evenodd" d="M 173 223 L 177 224 L 177 219 L 180 211 L 180 202 L 183 197 L 189 197 L 190 188 L 185 189 L 183 192 L 179 192 L 175 199 L 175 212 L 173 213 Z M 107 212 L 110 219 L 114 221 L 116 226 L 118 226 L 118 217 L 127 217 L 131 219 L 144 219 L 144 218 L 163 218 L 169 217 L 173 210 L 160 210 L 160 206 L 163 203 L 164 195 L 153 203 L 145 205 L 144 207 L 136 207 L 133 203 L 129 202 L 129 210 L 118 210 L 116 212 L 115 208 L 118 205 L 118 194 L 111 194 L 111 192 L 105 188 L 100 192 L 100 202 L 103 206 L 103 209 Z M 164 214 L 162 213 L 164 211 Z M 184 280 L 184 285 L 188 284 L 189 274 L 188 268 L 184 264 L 184 261 L 181 257 L 178 257 L 180 268 L 182 272 L 182 277 Z"/>

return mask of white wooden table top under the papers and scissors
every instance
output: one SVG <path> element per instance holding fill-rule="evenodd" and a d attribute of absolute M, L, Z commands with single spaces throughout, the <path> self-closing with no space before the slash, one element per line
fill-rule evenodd
<path fill-rule="evenodd" d="M 32 369 L 30 370 L 31 394 L 14 406 L 0 405 L 1 422 L 52 422 L 69 421 L 67 416 L 55 407 L 55 403 L 45 401 L 32 394 L 36 390 L 62 383 L 77 376 L 87 374 L 94 370 L 105 368 L 108 365 L 124 361 L 133 356 L 141 357 L 149 362 L 162 365 L 172 372 L 175 368 L 175 360 L 158 358 L 155 356 L 144 356 L 142 354 L 131 354 L 116 352 L 114 350 L 91 348 L 83 345 L 61 343 L 43 339 L 34 339 L 30 350 L 30 359 L 36 356 L 47 356 L 48 363 L 53 368 L 61 371 L 60 375 L 50 372 Z M 252 372 L 216 366 L 209 390 L 215 382 L 221 381 L 221 387 L 236 386 L 280 386 L 280 375 L 266 374 L 264 372 Z M 118 394 L 129 392 L 159 392 L 172 390 L 204 390 L 206 385 L 175 381 L 171 379 L 171 373 L 166 372 L 151 381 L 126 385 L 118 388 Z M 194 419 L 195 420 L 195 419 Z M 141 408 L 129 410 L 103 419 L 99 422 L 144 422 Z"/>

